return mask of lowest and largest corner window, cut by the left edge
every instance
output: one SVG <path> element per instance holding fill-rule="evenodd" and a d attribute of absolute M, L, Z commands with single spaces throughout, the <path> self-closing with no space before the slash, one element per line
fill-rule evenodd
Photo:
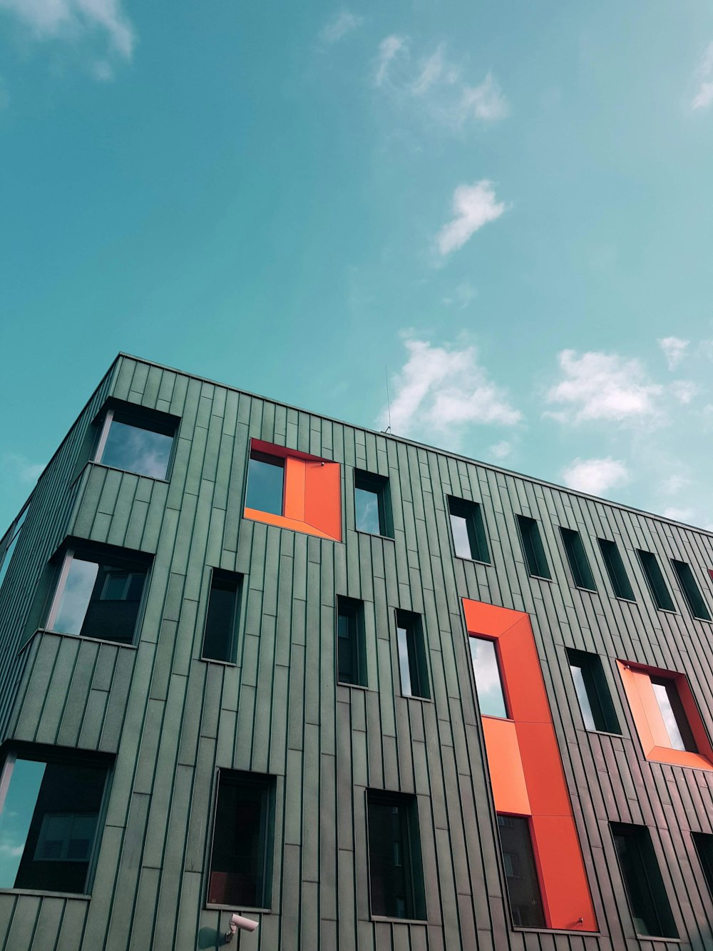
<path fill-rule="evenodd" d="M 0 782 L 0 888 L 87 893 L 106 773 L 87 757 L 10 754 Z"/>

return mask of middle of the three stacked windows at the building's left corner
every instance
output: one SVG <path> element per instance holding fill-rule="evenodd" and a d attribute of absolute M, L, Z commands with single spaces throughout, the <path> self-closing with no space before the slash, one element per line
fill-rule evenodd
<path fill-rule="evenodd" d="M 141 608 L 148 560 L 131 553 L 68 549 L 46 627 L 130 644 Z"/>

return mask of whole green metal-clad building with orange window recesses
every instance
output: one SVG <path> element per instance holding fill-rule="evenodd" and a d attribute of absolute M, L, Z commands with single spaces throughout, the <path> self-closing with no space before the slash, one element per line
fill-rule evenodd
<path fill-rule="evenodd" d="M 712 543 L 119 356 L 3 541 L 2 951 L 710 951 Z"/>

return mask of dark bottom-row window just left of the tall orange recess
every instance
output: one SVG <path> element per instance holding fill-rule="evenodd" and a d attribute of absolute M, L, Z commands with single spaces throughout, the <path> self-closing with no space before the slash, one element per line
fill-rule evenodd
<path fill-rule="evenodd" d="M 372 915 L 425 920 L 415 796 L 367 789 Z"/>

